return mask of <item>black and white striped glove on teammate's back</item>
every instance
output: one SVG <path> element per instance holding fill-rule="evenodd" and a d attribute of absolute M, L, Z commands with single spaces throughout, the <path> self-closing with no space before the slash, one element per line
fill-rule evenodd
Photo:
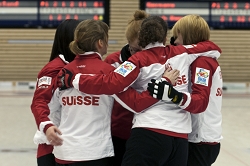
<path fill-rule="evenodd" d="M 167 81 L 159 81 L 152 79 L 151 83 L 148 83 L 148 91 L 154 98 L 172 101 L 175 104 L 179 104 L 183 98 L 183 93 L 178 92 L 174 89 L 172 84 Z"/>

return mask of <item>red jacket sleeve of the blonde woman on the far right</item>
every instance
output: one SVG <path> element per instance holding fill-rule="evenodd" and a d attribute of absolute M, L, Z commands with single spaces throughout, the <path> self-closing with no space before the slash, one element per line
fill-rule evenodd
<path fill-rule="evenodd" d="M 181 107 L 191 113 L 204 112 L 208 106 L 216 60 L 199 57 L 191 64 L 191 94 L 185 94 L 186 100 Z"/>

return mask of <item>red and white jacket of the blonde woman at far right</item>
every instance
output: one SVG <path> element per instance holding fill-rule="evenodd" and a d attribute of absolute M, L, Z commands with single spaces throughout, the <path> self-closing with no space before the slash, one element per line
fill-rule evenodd
<path fill-rule="evenodd" d="M 217 60 L 199 57 L 192 63 L 192 94 L 182 106 L 191 112 L 192 132 L 188 135 L 189 142 L 221 141 L 222 86 L 221 68 Z"/>

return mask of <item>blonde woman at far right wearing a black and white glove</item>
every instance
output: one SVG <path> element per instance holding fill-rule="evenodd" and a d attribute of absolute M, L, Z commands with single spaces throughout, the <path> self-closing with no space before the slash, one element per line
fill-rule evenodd
<path fill-rule="evenodd" d="M 175 45 L 197 44 L 210 38 L 207 22 L 198 15 L 187 15 L 172 28 Z M 191 113 L 192 132 L 188 134 L 188 166 L 211 166 L 220 152 L 222 139 L 222 74 L 214 58 L 199 57 L 190 66 L 190 93 L 176 91 L 168 82 L 153 80 L 149 84 L 152 96 L 167 100 L 175 92 L 180 108 Z M 167 74 L 167 73 L 165 73 Z"/>

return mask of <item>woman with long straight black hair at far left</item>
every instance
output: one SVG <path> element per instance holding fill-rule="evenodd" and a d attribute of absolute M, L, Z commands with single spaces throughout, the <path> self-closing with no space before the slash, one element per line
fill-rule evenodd
<path fill-rule="evenodd" d="M 57 87 L 54 84 L 56 75 L 64 65 L 75 58 L 75 55 L 69 49 L 69 43 L 74 40 L 74 30 L 79 22 L 78 20 L 68 19 L 57 27 L 49 62 L 38 73 L 36 89 L 31 104 L 31 110 L 39 130 L 37 131 L 38 134 L 39 132 L 46 133 L 48 129 L 57 130 L 50 121 L 48 103 Z M 54 140 L 60 144 L 61 140 L 57 135 L 52 135 L 51 137 L 55 137 Z M 52 150 L 52 145 L 38 145 L 38 166 L 55 166 L 55 157 L 52 154 Z"/>

